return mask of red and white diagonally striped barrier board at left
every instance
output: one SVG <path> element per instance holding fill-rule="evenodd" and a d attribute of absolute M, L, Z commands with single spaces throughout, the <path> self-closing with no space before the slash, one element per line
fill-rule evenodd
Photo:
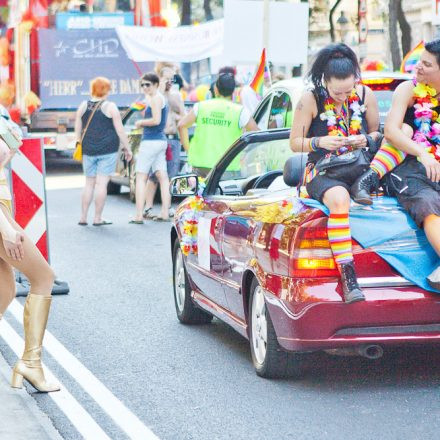
<path fill-rule="evenodd" d="M 20 153 L 11 161 L 15 221 L 49 261 L 44 149 L 41 139 L 24 139 Z"/>

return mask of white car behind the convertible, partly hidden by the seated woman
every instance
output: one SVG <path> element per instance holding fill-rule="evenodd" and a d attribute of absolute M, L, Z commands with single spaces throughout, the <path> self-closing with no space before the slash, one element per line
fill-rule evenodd
<path fill-rule="evenodd" d="M 391 107 L 393 91 L 400 83 L 412 78 L 412 75 L 399 72 L 362 72 L 361 82 L 370 87 L 376 95 L 381 127 Z M 293 111 L 305 87 L 302 78 L 275 83 L 254 113 L 254 119 L 260 129 L 291 127 Z"/>

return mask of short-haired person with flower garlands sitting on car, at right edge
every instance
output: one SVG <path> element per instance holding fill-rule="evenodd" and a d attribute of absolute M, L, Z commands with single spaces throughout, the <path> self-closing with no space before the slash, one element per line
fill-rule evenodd
<path fill-rule="evenodd" d="M 440 39 L 425 44 L 413 81 L 400 84 L 385 122 L 387 140 L 358 181 L 369 191 L 379 179 L 423 228 L 440 257 Z M 391 172 L 392 171 L 392 172 Z M 439 261 L 440 263 L 440 261 Z M 440 290 L 440 264 L 427 277 Z"/>

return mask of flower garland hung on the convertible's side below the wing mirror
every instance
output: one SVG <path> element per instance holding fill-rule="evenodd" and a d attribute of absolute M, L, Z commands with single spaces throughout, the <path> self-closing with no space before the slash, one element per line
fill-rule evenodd
<path fill-rule="evenodd" d="M 200 211 L 205 206 L 205 200 L 203 198 L 205 186 L 205 182 L 199 177 L 197 194 L 187 199 L 185 210 L 180 217 L 182 231 L 180 249 L 185 256 L 188 256 L 191 252 L 197 255 L 199 251 L 197 246 L 197 233 Z"/>

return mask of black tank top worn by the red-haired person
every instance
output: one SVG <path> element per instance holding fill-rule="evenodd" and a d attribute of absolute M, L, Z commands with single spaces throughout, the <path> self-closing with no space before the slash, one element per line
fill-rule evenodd
<path fill-rule="evenodd" d="M 86 126 L 95 105 L 99 105 L 99 101 L 87 102 L 87 109 L 81 117 L 83 127 Z M 113 126 L 113 119 L 107 117 L 101 108 L 102 104 L 93 115 L 82 142 L 83 154 L 87 156 L 116 153 L 119 149 L 119 136 Z"/>

